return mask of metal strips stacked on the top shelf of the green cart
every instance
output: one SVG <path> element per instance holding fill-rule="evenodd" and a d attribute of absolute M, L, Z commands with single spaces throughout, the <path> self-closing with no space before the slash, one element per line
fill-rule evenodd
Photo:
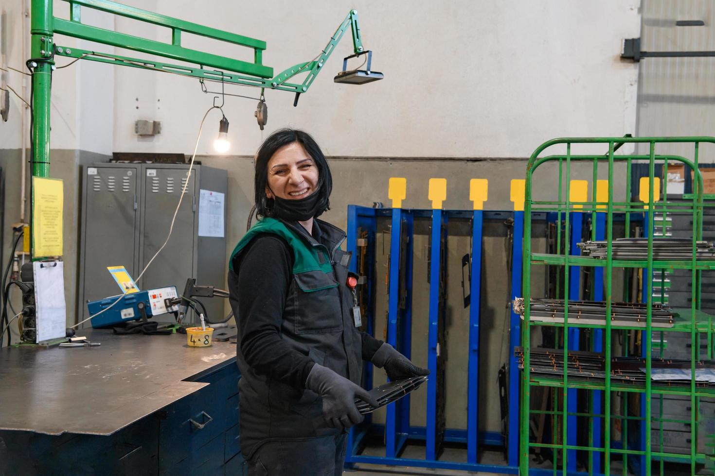
<path fill-rule="evenodd" d="M 581 253 L 593 258 L 606 259 L 606 241 L 586 241 L 578 243 Z M 619 238 L 613 240 L 611 257 L 614 260 L 647 260 L 647 238 Z M 689 238 L 653 238 L 653 259 L 691 260 L 693 258 L 693 240 Z M 715 260 L 715 250 L 709 241 L 696 242 L 696 258 Z"/>

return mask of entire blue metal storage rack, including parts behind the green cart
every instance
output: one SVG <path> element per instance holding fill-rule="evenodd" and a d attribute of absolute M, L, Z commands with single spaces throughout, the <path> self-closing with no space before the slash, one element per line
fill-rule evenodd
<path fill-rule="evenodd" d="M 387 341 L 390 345 L 400 350 L 405 356 L 411 355 L 411 328 L 412 328 L 412 274 L 413 274 L 413 233 L 415 218 L 429 218 L 432 221 L 431 246 L 430 246 L 430 308 L 429 308 L 429 333 L 428 333 L 428 368 L 431 374 L 428 380 L 426 426 L 410 425 L 410 400 L 409 397 L 388 405 L 385 425 L 374 424 L 372 415 L 368 414 L 365 421 L 354 427 L 348 437 L 348 449 L 345 462 L 347 466 L 357 463 L 378 464 L 378 465 L 398 465 L 414 467 L 432 467 L 445 470 L 465 470 L 499 472 L 506 474 L 518 474 L 518 435 L 519 435 L 519 380 L 518 365 L 513 353 L 513 347 L 520 345 L 521 338 L 521 318 L 516 313 L 511 313 L 510 317 L 510 351 L 509 351 L 509 385 L 508 385 L 508 407 L 509 418 L 506 438 L 499 432 L 480 432 L 478 430 L 478 384 L 479 384 L 479 310 L 480 310 L 480 288 L 481 288 L 481 243 L 483 238 L 483 223 L 485 220 L 506 221 L 513 219 L 513 246 L 511 250 L 512 275 L 511 275 L 511 298 L 521 297 L 522 283 L 522 243 L 523 243 L 523 211 L 462 211 L 462 210 L 418 210 L 406 208 L 368 208 L 363 206 L 350 205 L 347 209 L 347 250 L 352 252 L 350 270 L 359 273 L 358 262 L 364 261 L 362 275 L 365 276 L 366 285 L 363 300 L 365 304 L 365 330 L 375 335 L 375 245 L 377 235 L 378 218 L 390 220 L 390 262 L 388 279 L 388 335 Z M 569 248 L 571 253 L 579 254 L 576 246 L 578 241 L 583 240 L 584 218 L 592 218 L 593 214 L 583 212 L 571 212 L 571 223 L 574 224 L 573 233 L 569 237 Z M 595 213 L 595 236 L 597 240 L 603 239 L 605 235 L 605 213 Z M 616 221 L 622 221 L 623 217 L 614 217 Z M 631 217 L 631 223 L 641 221 L 637 215 Z M 453 429 L 444 427 L 443 413 L 438 412 L 440 400 L 438 398 L 438 378 L 435 378 L 442 371 L 442 364 L 439 360 L 438 348 L 443 346 L 440 343 L 440 325 L 444 324 L 443 319 L 443 288 L 440 289 L 440 273 L 442 273 L 441 258 L 443 253 L 443 240 L 446 240 L 446 226 L 449 220 L 470 220 L 472 223 L 472 249 L 470 265 L 470 310 L 469 310 L 469 347 L 468 347 L 468 392 L 467 392 L 467 429 Z M 642 219 L 642 218 L 641 218 Z M 556 223 L 556 213 L 534 213 L 533 221 L 546 221 Z M 580 226 L 576 226 L 581 223 Z M 362 232 L 358 236 L 358 231 Z M 361 253 L 358 240 L 365 240 L 365 253 L 360 260 L 355 259 Z M 570 272 L 569 295 L 581 295 L 581 273 L 578 267 L 572 267 Z M 363 278 L 361 278 L 363 279 Z M 603 281 L 603 270 L 596 268 L 593 282 L 593 299 L 603 298 L 603 289 L 598 283 Z M 402 294 L 400 294 L 402 293 Z M 442 321 L 440 323 L 440 320 Z M 578 332 L 578 329 L 573 329 Z M 380 337 L 380 336 L 378 336 Z M 573 345 L 578 345 L 577 335 L 569 335 L 569 341 Z M 603 335 L 599 331 L 594 335 L 596 349 L 602 347 Z M 440 343 L 438 346 L 437 344 Z M 373 386 L 373 365 L 365 363 L 363 386 L 372 388 Z M 442 399 L 443 400 L 443 399 Z M 570 405 L 576 412 L 576 391 L 569 395 Z M 573 403 L 571 403 L 573 402 Z M 600 409 L 602 405 L 601 393 L 594 393 L 593 408 Z M 597 410 L 594 410 L 596 412 Z M 576 427 L 576 417 L 569 417 L 568 424 Z M 571 420 L 572 419 L 572 420 Z M 594 422 L 600 428 L 598 420 Z M 602 436 L 597 430 L 596 441 L 600 441 Z M 382 436 L 385 441 L 385 455 L 362 455 L 366 439 L 370 436 Z M 572 436 L 573 435 L 573 436 Z M 576 431 L 569 431 L 569 438 L 573 437 L 570 444 L 576 445 Z M 425 445 L 425 458 L 405 458 L 400 457 L 408 442 L 420 441 Z M 440 448 L 443 442 L 460 443 L 466 445 L 467 461 L 447 461 L 440 459 Z M 506 447 L 506 464 L 485 465 L 478 462 L 478 450 L 480 445 L 492 447 Z M 574 451 L 575 452 L 575 451 Z M 568 474 L 581 475 L 576 471 L 576 457 L 569 457 L 574 466 L 569 467 Z M 594 460 L 596 474 L 600 472 L 600 458 Z M 534 475 L 552 474 L 552 470 L 531 470 Z"/>

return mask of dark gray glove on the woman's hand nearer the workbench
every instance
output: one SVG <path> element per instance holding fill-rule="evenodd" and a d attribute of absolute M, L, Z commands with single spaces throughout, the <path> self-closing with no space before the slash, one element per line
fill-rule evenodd
<path fill-rule="evenodd" d="M 355 397 L 375 408 L 380 406 L 368 390 L 320 364 L 315 364 L 310 369 L 305 388 L 322 397 L 322 417 L 329 427 L 340 431 L 363 421 L 363 415 L 360 415 L 358 407 L 355 406 Z"/>

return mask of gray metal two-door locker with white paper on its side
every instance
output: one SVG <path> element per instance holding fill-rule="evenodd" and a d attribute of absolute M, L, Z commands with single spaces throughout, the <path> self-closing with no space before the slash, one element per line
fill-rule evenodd
<path fill-rule="evenodd" d="M 82 309 L 78 310 L 78 315 L 85 315 L 84 318 L 87 318 L 86 304 L 88 299 L 104 298 L 119 291 L 111 275 L 107 272 L 107 266 L 127 266 L 127 270 L 129 270 L 132 277 L 137 279 L 139 273 L 149 263 L 149 260 L 161 248 L 167 239 L 169 226 L 172 222 L 179 196 L 181 196 L 182 188 L 186 183 L 189 169 L 189 166 L 184 164 L 163 163 L 102 163 L 95 164 L 92 167 L 97 168 L 98 173 L 99 171 L 105 173 L 104 171 L 114 170 L 116 166 L 128 166 L 135 170 L 132 176 L 135 178 L 137 206 L 134 209 L 134 203 L 132 203 L 132 213 L 115 207 L 117 209 L 104 213 L 104 218 L 97 218 L 97 214 L 102 213 L 102 211 L 97 210 L 96 207 L 90 206 L 86 209 L 86 212 L 83 210 L 81 268 L 87 269 L 87 273 L 80 277 L 79 305 L 82 306 Z M 89 167 L 87 169 L 89 170 Z M 137 175 L 139 176 L 138 178 Z M 92 183 L 87 182 L 86 184 L 87 186 L 84 187 L 84 201 L 87 201 L 88 197 L 95 193 Z M 199 217 L 202 215 L 202 209 L 200 208 L 202 190 L 204 194 L 222 194 L 223 215 L 220 220 L 217 220 L 218 224 L 216 226 L 218 228 L 214 230 L 220 229 L 221 236 L 199 236 Z M 226 193 L 227 173 L 225 170 L 194 165 L 192 175 L 187 183 L 186 193 L 174 221 L 172 236 L 142 278 L 137 280 L 137 285 L 140 289 L 163 288 L 164 286 L 174 285 L 177 287 L 177 291 L 182 293 L 187 278 L 196 278 L 198 285 L 213 285 L 216 288 L 224 287 L 226 276 Z M 204 220 L 207 216 L 206 212 L 204 210 Z M 132 255 L 134 261 L 131 270 L 129 264 L 117 262 L 119 258 L 124 256 L 119 256 L 117 253 L 109 255 L 107 258 L 107 260 L 109 258 L 115 260 L 114 263 L 102 267 L 87 260 L 85 256 L 102 255 L 102 253 L 106 253 L 108 248 L 122 241 L 122 233 L 118 233 L 111 225 L 114 218 L 117 218 L 116 216 L 128 217 L 129 215 L 134 219 L 134 235 L 136 238 L 133 240 L 131 252 L 122 248 L 122 253 Z M 92 223 L 95 222 L 99 224 L 93 226 Z M 124 260 L 127 259 L 124 258 Z M 104 278 L 111 284 L 99 288 L 102 292 L 106 290 L 104 294 L 99 295 L 101 293 L 95 290 L 98 287 L 94 284 L 93 278 L 87 279 L 90 276 L 89 273 L 92 273 L 92 277 Z M 202 298 L 201 301 L 206 306 L 207 313 L 212 320 L 219 320 L 224 317 L 225 300 L 223 298 Z M 164 315 L 157 318 L 157 320 L 169 322 L 173 320 L 173 316 Z M 187 320 L 197 322 L 197 318 L 193 315 L 187 316 Z"/>

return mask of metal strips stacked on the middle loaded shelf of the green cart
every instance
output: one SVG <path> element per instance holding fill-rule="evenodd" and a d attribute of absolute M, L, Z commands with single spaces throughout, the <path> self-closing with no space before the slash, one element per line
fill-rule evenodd
<path fill-rule="evenodd" d="M 563 324 L 563 299 L 531 298 L 531 321 Z M 524 318 L 524 300 L 513 301 L 514 312 Z M 611 324 L 646 327 L 646 303 L 611 303 Z M 654 328 L 672 328 L 676 313 L 666 305 L 654 304 L 651 323 Z M 568 301 L 568 323 L 606 325 L 606 303 L 603 301 Z"/>

